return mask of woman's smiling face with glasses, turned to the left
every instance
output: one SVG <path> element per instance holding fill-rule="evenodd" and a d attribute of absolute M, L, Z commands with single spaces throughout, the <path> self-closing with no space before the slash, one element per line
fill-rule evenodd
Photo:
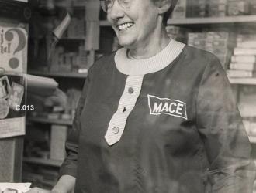
<path fill-rule="evenodd" d="M 116 32 L 119 44 L 136 49 L 147 46 L 157 38 L 158 12 L 152 0 L 130 0 L 130 8 L 123 8 L 118 1 L 109 8 L 107 18 Z"/>

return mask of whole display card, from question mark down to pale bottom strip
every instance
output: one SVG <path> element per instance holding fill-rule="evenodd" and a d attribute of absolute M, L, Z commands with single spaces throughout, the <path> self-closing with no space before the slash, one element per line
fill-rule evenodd
<path fill-rule="evenodd" d="M 24 26 L 24 28 L 22 28 Z M 0 22 L 0 139 L 25 134 L 28 32 L 26 25 Z"/>

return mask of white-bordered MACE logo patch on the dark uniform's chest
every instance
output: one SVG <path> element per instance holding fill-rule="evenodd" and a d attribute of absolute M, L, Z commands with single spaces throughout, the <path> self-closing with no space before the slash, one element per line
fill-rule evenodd
<path fill-rule="evenodd" d="M 186 103 L 180 100 L 171 100 L 168 98 L 159 98 L 148 94 L 148 107 L 150 114 L 160 115 L 168 114 L 175 117 L 182 117 L 187 120 Z"/>

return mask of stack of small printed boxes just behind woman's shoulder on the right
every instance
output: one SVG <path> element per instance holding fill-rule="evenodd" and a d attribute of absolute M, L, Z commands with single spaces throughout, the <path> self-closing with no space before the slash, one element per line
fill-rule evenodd
<path fill-rule="evenodd" d="M 189 33 L 188 44 L 212 52 L 220 59 L 223 68 L 227 69 L 231 56 L 231 39 L 232 36 L 228 32 L 192 32 Z"/>

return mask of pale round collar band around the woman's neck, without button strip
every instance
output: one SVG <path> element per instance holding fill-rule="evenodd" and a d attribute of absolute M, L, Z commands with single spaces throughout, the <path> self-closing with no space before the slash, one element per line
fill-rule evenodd
<path fill-rule="evenodd" d="M 116 68 L 126 75 L 144 75 L 154 73 L 171 64 L 182 52 L 185 44 L 170 40 L 168 45 L 157 55 L 148 59 L 130 59 L 127 57 L 127 49 L 117 50 L 115 55 Z"/>

